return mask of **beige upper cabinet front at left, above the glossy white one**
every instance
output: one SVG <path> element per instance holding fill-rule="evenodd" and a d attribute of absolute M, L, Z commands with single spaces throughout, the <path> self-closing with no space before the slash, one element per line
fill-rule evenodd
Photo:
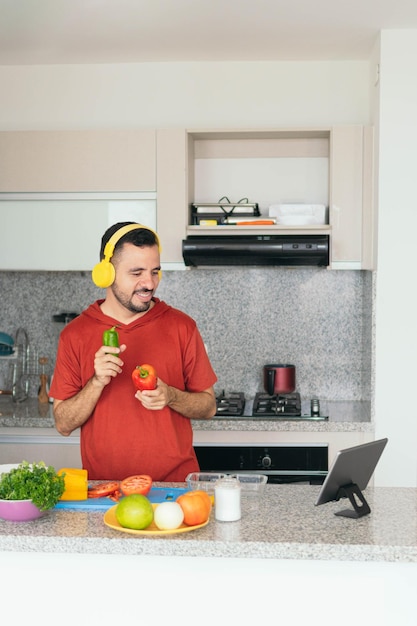
<path fill-rule="evenodd" d="M 0 132 L 0 192 L 155 191 L 155 130 Z"/>

